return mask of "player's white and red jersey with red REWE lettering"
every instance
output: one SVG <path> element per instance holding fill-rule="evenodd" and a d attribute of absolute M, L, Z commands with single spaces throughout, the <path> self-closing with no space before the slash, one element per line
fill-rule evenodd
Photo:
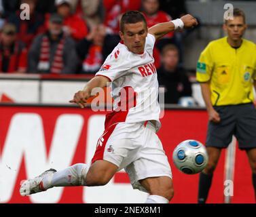
<path fill-rule="evenodd" d="M 159 130 L 158 77 L 153 59 L 155 42 L 155 37 L 148 34 L 143 54 L 134 54 L 119 43 L 96 73 L 111 81 L 113 112 L 107 115 L 105 127 L 118 122 L 155 120 Z"/>

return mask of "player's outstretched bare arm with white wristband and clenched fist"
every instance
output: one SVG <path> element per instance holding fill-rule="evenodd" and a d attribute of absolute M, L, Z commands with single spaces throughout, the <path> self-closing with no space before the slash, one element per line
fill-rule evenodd
<path fill-rule="evenodd" d="M 164 35 L 179 30 L 182 28 L 192 28 L 198 25 L 196 18 L 187 14 L 180 19 L 171 20 L 170 22 L 162 22 L 149 28 L 149 33 L 156 37 L 156 40 L 160 39 Z"/>

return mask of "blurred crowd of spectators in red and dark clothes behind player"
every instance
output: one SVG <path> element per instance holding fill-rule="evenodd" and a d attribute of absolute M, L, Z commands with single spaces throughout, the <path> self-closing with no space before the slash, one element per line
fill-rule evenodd
<path fill-rule="evenodd" d="M 0 0 L 0 73 L 96 73 L 119 43 L 128 10 L 143 12 L 149 27 L 187 14 L 185 0 Z M 191 96 L 182 68 L 187 34 L 169 33 L 153 52 L 169 103 Z"/>

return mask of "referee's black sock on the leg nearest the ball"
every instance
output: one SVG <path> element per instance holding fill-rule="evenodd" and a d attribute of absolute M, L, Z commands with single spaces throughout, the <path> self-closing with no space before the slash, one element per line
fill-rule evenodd
<path fill-rule="evenodd" d="M 198 203 L 205 203 L 208 197 L 208 192 L 211 188 L 213 174 L 200 173 L 199 188 L 198 188 Z"/>

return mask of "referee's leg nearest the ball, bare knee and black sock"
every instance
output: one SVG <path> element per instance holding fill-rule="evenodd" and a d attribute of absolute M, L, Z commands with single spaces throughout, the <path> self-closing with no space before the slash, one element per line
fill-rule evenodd
<path fill-rule="evenodd" d="M 206 147 L 206 151 L 208 153 L 208 163 L 199 176 L 198 203 L 206 203 L 213 180 L 213 172 L 221 155 L 221 149 L 212 146 Z"/>

